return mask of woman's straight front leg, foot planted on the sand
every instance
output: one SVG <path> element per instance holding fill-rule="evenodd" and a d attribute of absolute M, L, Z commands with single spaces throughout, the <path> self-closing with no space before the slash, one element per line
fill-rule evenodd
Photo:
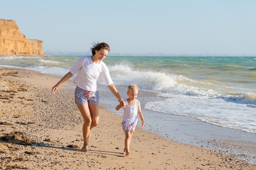
<path fill-rule="evenodd" d="M 90 137 L 90 126 L 92 124 L 91 113 L 88 104 L 77 105 L 81 115 L 83 116 L 83 147 L 81 148 L 82 152 L 87 152 L 88 149 L 88 140 Z"/>

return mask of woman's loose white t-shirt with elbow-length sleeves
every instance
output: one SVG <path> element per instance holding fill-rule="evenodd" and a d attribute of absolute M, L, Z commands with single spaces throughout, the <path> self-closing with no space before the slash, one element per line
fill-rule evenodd
<path fill-rule="evenodd" d="M 91 56 L 84 56 L 78 59 L 74 66 L 70 68 L 70 72 L 73 75 L 76 74 L 74 83 L 87 91 L 98 90 L 98 78 L 102 78 L 106 85 L 113 84 L 106 64 L 103 61 L 99 64 L 94 63 Z"/>

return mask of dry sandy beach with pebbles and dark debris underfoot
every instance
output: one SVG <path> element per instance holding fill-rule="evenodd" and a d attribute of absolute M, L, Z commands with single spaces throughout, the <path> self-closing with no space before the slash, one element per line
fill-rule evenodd
<path fill-rule="evenodd" d="M 74 85 L 23 69 L 0 68 L 0 169 L 256 170 L 256 165 L 204 148 L 166 140 L 139 126 L 131 155 L 123 155 L 121 116 L 100 105 L 89 151 L 83 145 L 83 118 L 74 104 Z M 117 103 L 118 104 L 118 103 Z"/>

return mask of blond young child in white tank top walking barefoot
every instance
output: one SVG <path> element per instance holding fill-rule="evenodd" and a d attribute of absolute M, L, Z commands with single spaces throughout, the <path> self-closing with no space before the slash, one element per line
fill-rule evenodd
<path fill-rule="evenodd" d="M 124 148 L 124 155 L 128 156 L 130 155 L 130 143 L 132 139 L 132 133 L 135 131 L 135 126 L 138 121 L 138 116 L 141 120 L 141 127 L 144 126 L 145 121 L 141 112 L 140 102 L 137 100 L 138 95 L 138 86 L 137 85 L 129 85 L 127 95 L 129 98 L 124 99 L 124 102 L 126 102 L 126 106 L 122 106 L 122 104 L 117 105 L 116 110 L 120 110 L 121 108 L 124 109 L 124 115 L 123 115 L 123 122 L 122 127 L 125 132 L 125 148 Z"/>

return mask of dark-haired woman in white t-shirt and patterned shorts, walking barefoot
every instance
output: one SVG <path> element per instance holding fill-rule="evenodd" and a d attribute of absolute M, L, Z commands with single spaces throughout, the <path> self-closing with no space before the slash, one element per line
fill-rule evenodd
<path fill-rule="evenodd" d="M 74 66 L 70 69 L 61 80 L 52 87 L 52 94 L 56 93 L 58 86 L 67 81 L 74 74 L 74 83 L 76 84 L 75 90 L 75 103 L 83 116 L 83 147 L 82 152 L 88 150 L 88 140 L 90 137 L 91 129 L 99 123 L 99 92 L 97 89 L 98 78 L 103 78 L 105 84 L 110 91 L 117 97 L 122 107 L 126 103 L 117 92 L 115 85 L 110 77 L 108 68 L 103 59 L 106 58 L 110 48 L 106 43 L 94 43 L 91 48 L 92 56 L 81 57 L 76 61 Z"/>

